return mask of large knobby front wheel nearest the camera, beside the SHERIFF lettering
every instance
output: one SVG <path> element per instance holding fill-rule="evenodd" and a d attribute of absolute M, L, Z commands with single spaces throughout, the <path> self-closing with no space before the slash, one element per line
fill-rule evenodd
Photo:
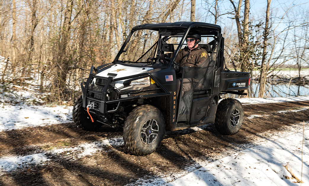
<path fill-rule="evenodd" d="M 135 108 L 125 121 L 123 140 L 133 155 L 148 155 L 160 145 L 165 122 L 160 110 L 152 105 Z"/>

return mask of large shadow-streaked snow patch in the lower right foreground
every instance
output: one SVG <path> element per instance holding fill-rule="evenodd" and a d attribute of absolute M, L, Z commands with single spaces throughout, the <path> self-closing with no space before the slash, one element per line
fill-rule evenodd
<path fill-rule="evenodd" d="M 304 131 L 307 135 L 309 130 Z M 196 169 L 172 176 L 139 179 L 129 185 L 294 185 L 294 175 L 309 182 L 309 140 L 302 133 L 288 135 L 214 162 L 196 161 Z M 305 137 L 306 138 L 306 137 Z M 288 178 L 288 179 L 287 179 Z"/>

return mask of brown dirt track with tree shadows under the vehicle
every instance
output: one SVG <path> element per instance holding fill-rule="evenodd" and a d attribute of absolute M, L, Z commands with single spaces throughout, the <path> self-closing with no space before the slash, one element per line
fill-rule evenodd
<path fill-rule="evenodd" d="M 244 104 L 243 107 L 245 118 L 237 134 L 221 135 L 213 124 L 201 126 L 202 130 L 198 131 L 166 132 L 161 146 L 147 156 L 131 155 L 124 145 L 107 146 L 79 159 L 49 153 L 49 147 L 59 147 L 64 142 L 75 146 L 122 135 L 122 130 L 107 127 L 87 132 L 67 122 L 0 132 L 0 156 L 41 152 L 50 156 L 50 161 L 43 165 L 0 176 L 0 185 L 125 185 L 139 178 L 179 172 L 196 159 L 214 161 L 284 134 L 286 128 L 293 131 L 293 127 L 299 127 L 303 121 L 309 125 L 309 101 Z M 287 112 L 278 112 L 281 110 Z"/>

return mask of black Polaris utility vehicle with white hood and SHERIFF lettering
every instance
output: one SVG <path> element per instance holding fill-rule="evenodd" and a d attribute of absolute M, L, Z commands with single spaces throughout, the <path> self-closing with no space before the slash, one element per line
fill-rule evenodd
<path fill-rule="evenodd" d="M 190 31 L 200 33 L 199 46 L 210 56 L 198 67 L 179 68 L 175 58 Z M 168 52 L 174 53 L 171 59 L 159 59 Z M 84 130 L 122 127 L 125 146 L 134 155 L 154 152 L 165 130 L 214 122 L 221 134 L 236 134 L 243 107 L 236 99 L 219 100 L 222 94 L 245 94 L 250 75 L 231 72 L 224 65 L 224 38 L 218 25 L 138 25 L 112 63 L 91 67 L 87 81 L 81 83 L 83 95 L 74 104 L 73 120 Z M 182 79 L 179 93 L 177 78 Z"/>

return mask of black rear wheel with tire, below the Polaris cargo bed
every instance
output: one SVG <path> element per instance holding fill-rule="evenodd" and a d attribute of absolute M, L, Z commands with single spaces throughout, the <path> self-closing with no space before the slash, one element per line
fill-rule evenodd
<path fill-rule="evenodd" d="M 218 105 L 214 124 L 221 134 L 236 134 L 243 125 L 243 105 L 236 99 L 223 99 Z"/>

